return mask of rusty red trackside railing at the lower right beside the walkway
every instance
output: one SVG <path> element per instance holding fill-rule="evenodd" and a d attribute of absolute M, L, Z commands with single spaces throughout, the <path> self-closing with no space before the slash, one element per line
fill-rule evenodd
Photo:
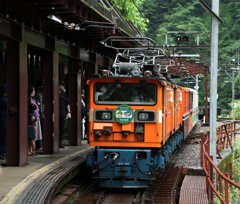
<path fill-rule="evenodd" d="M 217 158 L 221 157 L 221 150 L 225 148 L 232 149 L 232 142 L 236 138 L 236 122 L 230 122 L 217 127 Z M 214 204 L 214 194 L 223 204 L 229 203 L 229 186 L 239 188 L 240 185 L 232 181 L 232 165 L 229 165 L 229 173 L 223 174 L 213 163 L 213 157 L 210 156 L 210 133 L 201 134 L 201 166 L 206 174 L 206 186 L 209 189 L 209 203 Z M 214 185 L 214 170 L 218 180 L 218 189 Z"/>

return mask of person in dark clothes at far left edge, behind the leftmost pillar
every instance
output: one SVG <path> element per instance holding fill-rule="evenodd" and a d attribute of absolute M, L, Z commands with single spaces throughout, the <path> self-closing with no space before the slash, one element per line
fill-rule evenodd
<path fill-rule="evenodd" d="M 0 95 L 0 159 L 7 158 L 7 84 L 1 86 Z"/>

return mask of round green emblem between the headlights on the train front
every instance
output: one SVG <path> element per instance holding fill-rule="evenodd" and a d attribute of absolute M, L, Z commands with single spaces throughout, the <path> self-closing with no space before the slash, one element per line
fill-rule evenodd
<path fill-rule="evenodd" d="M 128 124 L 133 119 L 133 110 L 130 106 L 121 105 L 115 111 L 115 118 L 121 124 Z"/>

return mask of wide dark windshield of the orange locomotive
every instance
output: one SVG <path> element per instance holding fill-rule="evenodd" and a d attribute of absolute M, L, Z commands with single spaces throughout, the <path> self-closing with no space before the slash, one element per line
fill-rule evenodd
<path fill-rule="evenodd" d="M 155 105 L 156 84 L 152 83 L 96 83 L 95 104 Z"/>

